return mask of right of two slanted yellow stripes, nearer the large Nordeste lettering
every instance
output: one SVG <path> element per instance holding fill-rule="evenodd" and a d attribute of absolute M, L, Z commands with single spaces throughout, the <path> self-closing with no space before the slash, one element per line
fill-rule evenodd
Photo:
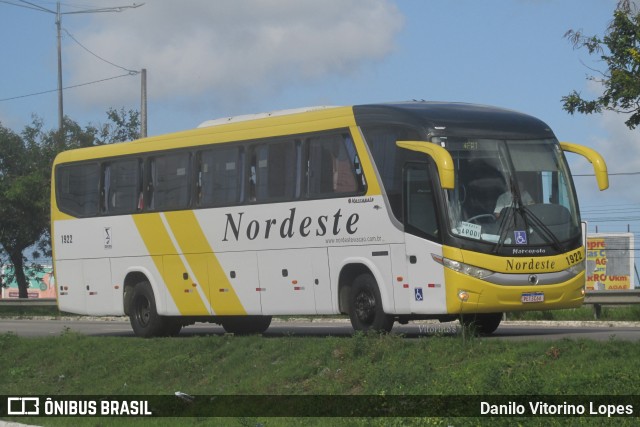
<path fill-rule="evenodd" d="M 165 218 L 171 231 L 182 250 L 183 256 L 189 263 L 191 271 L 201 283 L 208 283 L 209 304 L 213 314 L 240 315 L 247 314 L 236 294 L 224 269 L 213 253 L 211 245 L 200 227 L 200 223 L 193 211 L 166 212 Z M 219 292 L 218 289 L 225 289 Z"/>

